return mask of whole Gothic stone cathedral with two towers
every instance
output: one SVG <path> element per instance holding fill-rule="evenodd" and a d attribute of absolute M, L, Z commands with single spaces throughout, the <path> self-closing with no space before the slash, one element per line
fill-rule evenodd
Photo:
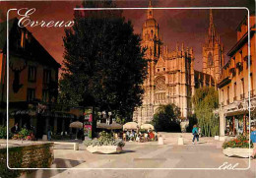
<path fill-rule="evenodd" d="M 215 30 L 212 10 L 209 32 L 203 47 L 203 72 L 194 70 L 192 47 L 185 47 L 182 43 L 170 51 L 168 46 L 163 45 L 151 1 L 141 37 L 141 45 L 147 49 L 145 57 L 148 59 L 148 76 L 143 85 L 143 104 L 135 109 L 133 121 L 138 124 L 152 121 L 160 105 L 168 103 L 180 108 L 181 119 L 187 118 L 193 113 L 192 96 L 195 89 L 216 87 L 224 65 L 224 47 Z"/>

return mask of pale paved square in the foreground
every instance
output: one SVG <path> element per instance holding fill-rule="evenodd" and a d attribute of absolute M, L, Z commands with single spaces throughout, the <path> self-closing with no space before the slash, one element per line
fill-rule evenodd
<path fill-rule="evenodd" d="M 200 138 L 196 145 L 191 143 L 191 135 L 182 136 L 184 146 L 177 146 L 178 134 L 161 134 L 165 144 L 159 146 L 157 142 L 126 143 L 124 150 L 119 154 L 92 154 L 80 144 L 80 150 L 73 150 L 72 146 L 57 146 L 54 149 L 55 168 L 72 167 L 76 170 L 56 169 L 37 170 L 32 174 L 24 175 L 29 178 L 63 178 L 63 177 L 90 177 L 90 178 L 255 178 L 256 160 L 251 160 L 247 170 L 211 170 L 219 168 L 225 162 L 235 168 L 246 169 L 249 166 L 248 158 L 226 157 L 222 152 L 222 143 L 213 138 Z M 173 137 L 172 137 L 173 136 Z M 175 136 L 175 137 L 174 137 Z M 81 169 L 82 168 L 82 169 Z M 89 169 L 83 168 L 124 168 L 124 169 Z M 136 168 L 133 170 L 132 168 Z M 144 169 L 143 169 L 144 168 Z M 146 168 L 146 169 L 145 169 Z M 152 169 L 155 168 L 155 169 Z M 160 168 L 160 170 L 156 169 Z M 167 170 L 174 168 L 174 170 Z M 191 168 L 191 170 L 182 170 Z M 201 170 L 198 170 L 201 169 Z"/>

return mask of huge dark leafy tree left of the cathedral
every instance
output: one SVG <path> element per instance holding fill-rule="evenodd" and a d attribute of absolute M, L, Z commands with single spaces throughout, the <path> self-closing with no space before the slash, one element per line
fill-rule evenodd
<path fill-rule="evenodd" d="M 114 7 L 111 1 L 86 1 L 83 6 Z M 61 101 L 132 117 L 142 104 L 147 75 L 140 36 L 121 11 L 77 11 L 74 16 L 75 25 L 63 37 Z"/>

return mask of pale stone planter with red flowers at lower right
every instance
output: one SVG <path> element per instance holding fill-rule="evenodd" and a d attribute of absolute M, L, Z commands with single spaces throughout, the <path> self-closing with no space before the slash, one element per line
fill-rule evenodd
<path fill-rule="evenodd" d="M 228 157 L 249 157 L 252 153 L 253 145 L 249 143 L 248 136 L 240 135 L 235 139 L 224 142 L 223 148 L 224 154 Z"/>

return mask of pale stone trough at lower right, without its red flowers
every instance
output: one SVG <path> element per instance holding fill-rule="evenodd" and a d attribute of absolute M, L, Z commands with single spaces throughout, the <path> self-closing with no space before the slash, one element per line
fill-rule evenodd
<path fill-rule="evenodd" d="M 223 152 L 226 156 L 232 157 L 249 157 L 252 154 L 252 148 L 224 148 Z"/>

